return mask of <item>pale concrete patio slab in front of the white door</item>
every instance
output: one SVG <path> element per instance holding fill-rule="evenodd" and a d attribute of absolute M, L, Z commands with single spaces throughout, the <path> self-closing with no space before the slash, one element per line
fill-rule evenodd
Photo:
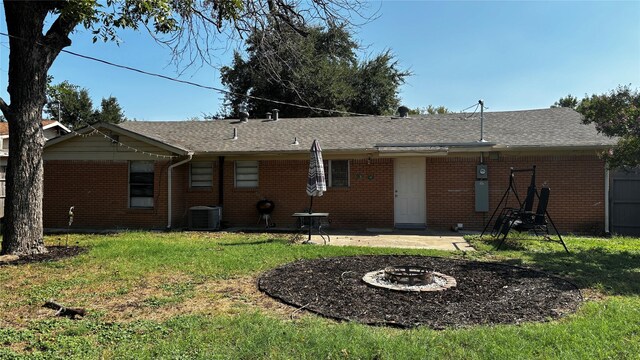
<path fill-rule="evenodd" d="M 329 233 L 331 241 L 327 245 L 334 246 L 369 246 L 396 247 L 407 249 L 438 249 L 449 251 L 475 251 L 467 243 L 462 234 L 454 232 L 433 233 L 430 231 L 378 230 L 371 231 L 339 231 Z M 326 238 L 326 237 L 325 237 Z M 311 236 L 313 244 L 324 244 L 323 239 L 316 234 Z"/>

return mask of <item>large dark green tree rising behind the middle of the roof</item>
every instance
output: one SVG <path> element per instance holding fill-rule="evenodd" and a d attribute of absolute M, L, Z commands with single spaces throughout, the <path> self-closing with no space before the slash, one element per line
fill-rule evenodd
<path fill-rule="evenodd" d="M 287 117 L 395 112 L 398 87 L 410 73 L 398 68 L 389 51 L 359 62 L 357 49 L 345 26 L 294 31 L 272 24 L 256 30 L 246 40 L 247 59 L 235 52 L 232 64 L 221 69 L 222 84 L 230 91 L 228 112 L 235 114 L 240 106 L 256 117 L 274 107 Z"/>

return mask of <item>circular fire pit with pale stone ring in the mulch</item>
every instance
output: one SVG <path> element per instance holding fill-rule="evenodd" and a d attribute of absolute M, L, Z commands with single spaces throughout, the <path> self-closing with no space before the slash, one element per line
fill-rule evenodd
<path fill-rule="evenodd" d="M 378 288 L 396 291 L 442 291 L 457 285 L 449 275 L 422 266 L 388 266 L 366 273 L 362 281 Z"/>

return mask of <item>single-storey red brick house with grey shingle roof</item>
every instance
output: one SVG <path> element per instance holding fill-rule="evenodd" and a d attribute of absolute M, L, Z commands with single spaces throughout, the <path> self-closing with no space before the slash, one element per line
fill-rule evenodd
<path fill-rule="evenodd" d="M 613 140 L 567 108 L 483 120 L 484 141 L 477 114 L 98 124 L 47 142 L 44 223 L 66 227 L 75 206 L 75 228 L 180 229 L 192 207 L 219 206 L 224 224 L 256 226 L 256 203 L 267 198 L 272 221 L 288 227 L 309 204 L 309 147 L 318 139 L 328 190 L 313 207 L 334 228 L 481 230 L 509 169 L 536 165 L 560 231 L 606 230 L 608 173 L 598 153 Z M 520 194 L 528 183 L 517 179 Z"/>

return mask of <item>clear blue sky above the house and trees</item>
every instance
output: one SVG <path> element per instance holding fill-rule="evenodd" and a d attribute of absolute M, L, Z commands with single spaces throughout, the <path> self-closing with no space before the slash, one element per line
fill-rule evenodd
<path fill-rule="evenodd" d="M 546 108 L 560 97 L 640 88 L 640 2 L 370 2 L 379 17 L 356 29 L 362 58 L 390 49 L 414 75 L 401 87 L 411 108 L 452 111 L 485 101 L 490 111 Z M 0 9 L 0 30 L 6 32 Z M 176 77 L 168 50 L 146 33 L 92 44 L 79 29 L 68 50 Z M 6 101 L 8 40 L 0 38 L 0 96 Z M 229 45 L 230 49 L 239 44 Z M 218 52 L 218 65 L 232 50 Z M 89 89 L 94 105 L 118 98 L 138 120 L 184 120 L 215 113 L 222 95 L 61 54 L 50 74 Z M 222 87 L 219 72 L 193 67 L 181 79 Z M 286 116 L 286 114 L 283 114 Z"/>

